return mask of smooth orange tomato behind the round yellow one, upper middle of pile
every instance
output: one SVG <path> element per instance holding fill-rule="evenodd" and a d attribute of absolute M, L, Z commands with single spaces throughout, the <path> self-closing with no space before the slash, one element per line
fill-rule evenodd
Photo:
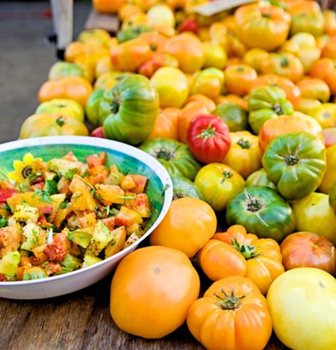
<path fill-rule="evenodd" d="M 182 33 L 169 38 L 165 52 L 179 61 L 180 69 L 185 73 L 200 70 L 204 63 L 202 42 L 193 34 Z"/>

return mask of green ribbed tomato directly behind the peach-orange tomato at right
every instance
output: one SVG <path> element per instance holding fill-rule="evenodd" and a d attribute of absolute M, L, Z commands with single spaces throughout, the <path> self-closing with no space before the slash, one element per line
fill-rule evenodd
<path fill-rule="evenodd" d="M 276 85 L 253 90 L 248 99 L 248 111 L 248 123 L 257 135 L 267 120 L 294 113 L 292 104 L 286 99 L 286 92 Z"/>

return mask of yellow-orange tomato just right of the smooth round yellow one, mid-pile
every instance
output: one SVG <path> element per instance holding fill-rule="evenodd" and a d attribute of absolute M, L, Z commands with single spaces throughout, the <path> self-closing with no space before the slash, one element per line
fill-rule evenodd
<path fill-rule="evenodd" d="M 206 68 L 196 73 L 190 94 L 203 94 L 209 99 L 215 99 L 223 90 L 224 73 L 217 68 Z"/>

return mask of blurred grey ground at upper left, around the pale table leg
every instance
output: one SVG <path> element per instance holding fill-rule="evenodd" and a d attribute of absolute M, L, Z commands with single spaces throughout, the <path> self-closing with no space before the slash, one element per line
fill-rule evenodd
<path fill-rule="evenodd" d="M 74 1 L 74 38 L 90 7 L 90 0 Z M 36 109 L 38 89 L 57 61 L 55 45 L 45 40 L 52 31 L 48 0 L 0 1 L 0 143 L 18 139 L 23 120 Z"/>

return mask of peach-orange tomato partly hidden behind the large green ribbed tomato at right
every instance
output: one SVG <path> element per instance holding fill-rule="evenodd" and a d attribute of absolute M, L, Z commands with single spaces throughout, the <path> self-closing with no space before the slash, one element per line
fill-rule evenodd
<path fill-rule="evenodd" d="M 279 116 L 276 119 L 269 119 L 262 125 L 259 132 L 259 147 L 262 153 L 265 152 L 267 146 L 276 137 L 288 134 L 288 132 L 308 132 L 308 134 L 319 137 L 321 141 L 323 136 L 321 134 L 321 126 L 309 116 Z"/>

